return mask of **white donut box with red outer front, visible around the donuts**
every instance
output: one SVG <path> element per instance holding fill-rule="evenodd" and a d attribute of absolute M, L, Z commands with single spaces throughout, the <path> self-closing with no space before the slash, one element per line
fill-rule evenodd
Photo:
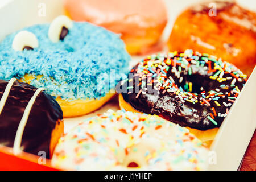
<path fill-rule="evenodd" d="M 36 23 L 51 22 L 56 16 L 63 14 L 61 0 L 46 0 L 43 3 L 40 0 L 32 2 L 30 0 L 24 0 L 22 2 L 18 0 L 6 0 L 1 3 L 0 15 L 5 18 L 0 19 L 0 23 L 5 28 L 1 28 L 0 30 L 0 41 L 6 35 L 20 28 Z M 170 13 L 170 23 L 164 31 L 163 40 L 168 39 L 175 17 L 181 10 L 191 4 L 191 2 L 187 1 L 171 2 L 168 0 L 166 0 L 166 3 L 168 9 L 171 9 L 171 7 L 176 7 L 176 9 Z M 13 12 L 16 12 L 16 14 L 13 14 Z M 165 50 L 166 48 L 164 48 L 163 52 Z M 133 56 L 130 67 L 137 64 L 142 58 L 141 56 Z M 237 170 L 239 168 L 256 127 L 254 111 L 256 108 L 255 89 L 256 69 L 254 68 L 253 73 L 251 73 L 236 103 L 229 110 L 228 117 L 225 118 L 210 147 L 212 161 L 209 162 L 209 170 Z M 64 118 L 65 131 L 69 131 L 82 119 L 102 114 L 109 109 L 119 110 L 117 98 L 105 104 L 101 109 L 83 117 Z M 12 148 L 5 146 L 0 146 L 0 169 L 58 170 L 51 166 L 49 160 L 42 159 L 40 156 L 27 154 L 26 152 L 14 155 Z"/>

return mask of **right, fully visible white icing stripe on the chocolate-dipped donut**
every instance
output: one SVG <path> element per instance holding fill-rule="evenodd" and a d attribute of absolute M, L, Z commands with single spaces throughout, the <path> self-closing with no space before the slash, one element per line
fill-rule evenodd
<path fill-rule="evenodd" d="M 39 88 L 38 90 L 36 90 L 36 92 L 34 93 L 34 96 L 31 98 L 31 100 L 27 104 L 27 107 L 23 113 L 22 119 L 20 120 L 18 130 L 16 131 L 16 136 L 15 136 L 14 145 L 13 145 L 14 154 L 19 154 L 19 152 L 21 152 L 20 144 L 22 141 L 23 131 L 27 124 L 28 116 L 30 115 L 30 111 L 32 109 L 32 106 L 34 105 L 36 97 L 38 97 L 40 92 L 42 92 L 43 90 L 44 90 L 44 88 Z"/>

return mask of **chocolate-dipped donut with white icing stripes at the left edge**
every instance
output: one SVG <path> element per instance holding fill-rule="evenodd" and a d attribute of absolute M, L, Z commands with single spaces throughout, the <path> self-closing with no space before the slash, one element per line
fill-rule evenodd
<path fill-rule="evenodd" d="M 38 155 L 44 151 L 50 158 L 64 133 L 63 112 L 43 88 L 0 80 L 0 144 Z"/>

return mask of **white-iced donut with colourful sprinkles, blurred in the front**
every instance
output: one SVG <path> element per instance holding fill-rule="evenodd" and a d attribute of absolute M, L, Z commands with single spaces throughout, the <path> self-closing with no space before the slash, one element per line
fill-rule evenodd
<path fill-rule="evenodd" d="M 200 170 L 208 149 L 188 129 L 156 115 L 109 110 L 60 138 L 53 166 L 70 170 Z"/>

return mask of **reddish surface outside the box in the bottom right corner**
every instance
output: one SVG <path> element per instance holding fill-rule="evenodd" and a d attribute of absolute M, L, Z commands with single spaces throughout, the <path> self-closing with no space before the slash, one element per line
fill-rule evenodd
<path fill-rule="evenodd" d="M 251 142 L 245 152 L 241 171 L 256 171 L 256 131 L 251 138 Z"/>

